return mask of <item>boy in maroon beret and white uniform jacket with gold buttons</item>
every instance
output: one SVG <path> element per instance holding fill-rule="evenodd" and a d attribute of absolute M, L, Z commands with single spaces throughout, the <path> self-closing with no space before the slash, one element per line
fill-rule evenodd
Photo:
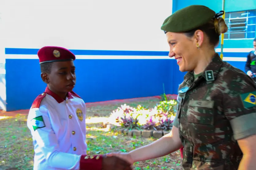
<path fill-rule="evenodd" d="M 86 155 L 86 105 L 72 91 L 75 55 L 55 46 L 45 46 L 37 55 L 47 87 L 32 103 L 27 120 L 35 151 L 34 170 L 131 169 L 117 157 Z"/>

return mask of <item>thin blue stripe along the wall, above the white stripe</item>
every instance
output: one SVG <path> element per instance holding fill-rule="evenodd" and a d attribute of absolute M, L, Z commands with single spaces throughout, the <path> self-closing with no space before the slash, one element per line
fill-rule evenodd
<path fill-rule="evenodd" d="M 39 49 L 6 48 L 5 54 L 36 55 Z M 75 55 L 168 56 L 168 51 L 71 50 Z M 219 53 L 220 54 L 220 53 Z M 224 52 L 224 57 L 246 57 L 248 53 Z"/>

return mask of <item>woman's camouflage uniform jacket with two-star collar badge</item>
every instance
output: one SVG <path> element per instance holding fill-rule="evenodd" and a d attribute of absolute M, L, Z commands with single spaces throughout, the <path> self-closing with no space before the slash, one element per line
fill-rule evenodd
<path fill-rule="evenodd" d="M 178 90 L 184 170 L 235 170 L 243 153 L 238 139 L 254 135 L 255 83 L 216 54 L 201 76 L 184 76 Z"/>

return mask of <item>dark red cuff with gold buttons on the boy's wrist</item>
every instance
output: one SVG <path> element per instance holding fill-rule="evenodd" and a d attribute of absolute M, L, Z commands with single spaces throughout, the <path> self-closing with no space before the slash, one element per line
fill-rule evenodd
<path fill-rule="evenodd" d="M 80 170 L 102 170 L 102 155 L 82 155 Z"/>

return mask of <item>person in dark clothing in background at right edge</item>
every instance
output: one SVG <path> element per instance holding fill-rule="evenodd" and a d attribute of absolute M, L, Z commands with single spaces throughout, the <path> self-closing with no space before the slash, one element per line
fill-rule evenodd
<path fill-rule="evenodd" d="M 250 51 L 247 55 L 247 60 L 245 64 L 245 72 L 248 76 L 250 76 L 254 81 L 256 81 L 256 38 L 253 40 L 254 50 Z"/>

